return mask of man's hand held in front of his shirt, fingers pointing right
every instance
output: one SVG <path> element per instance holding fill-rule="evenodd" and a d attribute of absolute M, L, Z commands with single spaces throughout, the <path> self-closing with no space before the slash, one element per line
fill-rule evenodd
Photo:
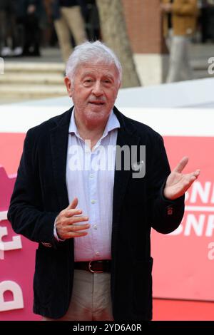
<path fill-rule="evenodd" d="M 71 204 L 56 217 L 56 232 L 59 239 L 71 239 L 88 234 L 88 232 L 82 232 L 90 227 L 88 223 L 78 225 L 78 222 L 88 221 L 88 217 L 80 216 L 82 210 L 76 209 L 77 204 L 78 199 L 75 197 Z"/>

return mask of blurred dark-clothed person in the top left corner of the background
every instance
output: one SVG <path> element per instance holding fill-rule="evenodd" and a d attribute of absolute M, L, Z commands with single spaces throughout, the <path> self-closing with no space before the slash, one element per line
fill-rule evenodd
<path fill-rule="evenodd" d="M 0 55 L 20 56 L 21 38 L 16 26 L 16 0 L 0 0 Z"/>

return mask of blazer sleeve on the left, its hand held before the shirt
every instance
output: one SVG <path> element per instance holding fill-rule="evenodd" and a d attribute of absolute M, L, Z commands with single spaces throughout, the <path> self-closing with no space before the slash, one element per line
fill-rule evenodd
<path fill-rule="evenodd" d="M 55 244 L 54 220 L 58 212 L 44 211 L 37 160 L 36 140 L 32 128 L 24 141 L 8 220 L 17 234 L 23 234 L 34 242 Z"/>

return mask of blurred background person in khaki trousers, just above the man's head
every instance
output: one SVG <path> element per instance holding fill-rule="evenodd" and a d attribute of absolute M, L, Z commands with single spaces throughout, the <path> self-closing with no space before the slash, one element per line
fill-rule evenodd
<path fill-rule="evenodd" d="M 73 50 L 71 35 L 76 45 L 87 39 L 80 0 L 52 0 L 52 16 L 63 61 L 66 63 Z"/>

